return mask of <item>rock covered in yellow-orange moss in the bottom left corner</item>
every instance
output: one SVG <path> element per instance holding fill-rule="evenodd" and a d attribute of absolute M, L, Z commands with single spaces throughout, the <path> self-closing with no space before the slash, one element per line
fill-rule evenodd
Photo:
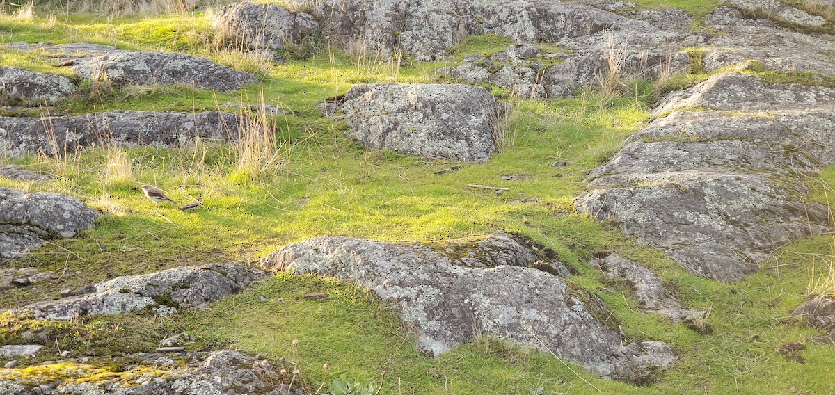
<path fill-rule="evenodd" d="M 276 372 L 292 366 L 274 366 L 236 351 L 190 352 L 182 363 L 164 354 L 126 357 L 84 357 L 35 366 L 55 377 L 28 375 L 22 369 L 0 370 L 0 393 L 8 395 L 302 395 Z M 114 366 L 124 366 L 119 371 Z M 90 377 L 97 377 L 91 380 Z M 296 381 L 297 383 L 298 381 Z M 38 388 L 36 390 L 36 388 Z"/>

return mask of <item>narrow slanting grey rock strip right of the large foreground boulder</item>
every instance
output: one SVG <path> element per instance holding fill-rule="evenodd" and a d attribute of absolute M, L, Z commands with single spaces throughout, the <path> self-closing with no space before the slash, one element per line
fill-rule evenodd
<path fill-rule="evenodd" d="M 616 254 L 590 262 L 600 267 L 606 276 L 623 278 L 635 291 L 640 308 L 670 317 L 673 322 L 705 317 L 706 311 L 689 310 L 671 291 L 667 291 L 661 279 L 649 269 L 624 259 Z"/>

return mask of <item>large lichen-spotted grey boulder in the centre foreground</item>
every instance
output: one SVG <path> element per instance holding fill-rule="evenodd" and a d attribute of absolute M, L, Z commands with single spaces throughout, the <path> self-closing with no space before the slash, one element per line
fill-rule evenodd
<path fill-rule="evenodd" d="M 326 237 L 286 246 L 262 263 L 361 282 L 394 306 L 417 332 L 418 347 L 435 356 L 483 333 L 554 352 L 607 377 L 641 376 L 676 359 L 663 342 L 623 346 L 618 332 L 601 322 L 610 315 L 594 294 L 526 267 L 535 259 L 505 235 L 453 247 Z"/>

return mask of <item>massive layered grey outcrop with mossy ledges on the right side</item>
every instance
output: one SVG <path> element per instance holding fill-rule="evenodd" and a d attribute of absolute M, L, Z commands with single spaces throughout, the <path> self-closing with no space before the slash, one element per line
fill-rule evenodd
<path fill-rule="evenodd" d="M 778 246 L 827 230 L 827 208 L 802 202 L 802 176 L 832 163 L 833 99 L 738 73 L 671 94 L 655 113 L 672 114 L 594 170 L 578 208 L 693 273 L 741 280 Z"/>

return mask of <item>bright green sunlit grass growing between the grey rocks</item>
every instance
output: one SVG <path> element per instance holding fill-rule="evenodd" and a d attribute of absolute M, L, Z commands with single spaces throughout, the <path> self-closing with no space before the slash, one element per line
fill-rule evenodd
<path fill-rule="evenodd" d="M 663 3 L 647 2 L 649 6 Z M 712 3 L 689 3 L 691 13 Z M 125 48 L 177 49 L 222 56 L 206 48 L 209 25 L 200 13 L 149 18 L 94 18 L 61 15 L 50 19 L 0 18 L 8 41 L 95 41 Z M 4 40 L 6 41 L 6 40 Z M 489 53 L 504 48 L 497 38 L 475 38 L 460 48 Z M 55 69 L 21 53 L 3 53 L 6 64 Z M 530 235 L 559 252 L 581 274 L 573 281 L 600 292 L 623 331 L 633 340 L 670 343 L 681 361 L 647 387 L 600 380 L 542 352 L 526 352 L 489 339 L 458 347 L 439 360 L 419 355 L 414 339 L 386 306 L 351 284 L 312 276 L 279 275 L 244 295 L 212 305 L 209 311 L 184 311 L 175 317 L 96 317 L 62 324 L 57 347 L 113 355 L 149 350 L 161 337 L 185 330 L 198 337 L 193 346 L 229 347 L 288 357 L 301 362 L 314 387 L 328 377 L 379 380 L 383 393 L 827 393 L 835 382 L 831 346 L 802 352 L 807 363 L 778 355 L 785 342 L 804 341 L 814 332 L 787 319 L 802 301 L 812 267 L 821 274 L 831 262 L 831 237 L 797 241 L 774 254 L 762 271 L 727 285 L 691 276 L 658 251 L 636 246 L 608 224 L 570 210 L 583 189 L 584 175 L 617 149 L 648 117 L 648 89 L 640 85 L 629 99 L 586 93 L 580 99 L 547 103 L 505 98 L 514 104 L 508 143 L 481 165 L 466 165 L 445 175 L 434 170 L 447 161 L 418 160 L 387 152 L 367 152 L 346 139 L 344 125 L 324 119 L 314 105 L 344 93 L 352 84 L 378 81 L 431 82 L 440 65 L 397 68 L 391 63 L 357 61 L 346 54 L 291 61 L 284 65 L 236 63 L 266 73 L 264 84 L 234 94 L 190 89 L 119 92 L 89 89 L 88 99 L 62 104 L 72 112 L 104 109 L 214 109 L 227 102 L 281 104 L 294 115 L 276 120 L 282 143 L 274 171 L 246 170 L 235 149 L 200 144 L 196 149 L 95 149 L 66 158 L 27 158 L 14 163 L 48 170 L 61 178 L 46 185 L 0 180 L 27 190 L 58 190 L 77 195 L 103 210 L 94 230 L 74 240 L 56 241 L 11 266 L 36 266 L 66 273 L 54 284 L 0 295 L 3 306 L 56 297 L 63 288 L 83 286 L 122 274 L 144 273 L 213 261 L 257 261 L 292 241 L 321 235 L 356 235 L 388 240 L 426 240 L 483 234 L 503 229 Z M 37 67 L 36 67 L 37 66 Z M 498 94 L 504 94 L 501 91 Z M 630 95 L 627 95 L 630 96 Z M 554 160 L 571 165 L 551 167 Z M 504 181 L 501 175 L 529 174 Z M 201 197 L 205 208 L 182 213 L 167 206 L 154 211 L 136 190 L 152 182 L 175 200 Z M 497 196 L 468 190 L 466 184 L 509 187 Z M 835 170 L 810 180 L 812 199 L 827 201 Z M 516 203 L 522 197 L 539 202 Z M 163 217 L 164 216 L 164 217 Z M 167 218 L 167 220 L 166 220 Z M 170 222 L 169 222 L 170 220 Z M 624 284 L 605 279 L 584 265 L 595 251 L 618 251 L 652 267 L 681 297 L 711 311 L 712 334 L 698 334 L 662 317 L 642 314 Z M 301 298 L 325 291 L 325 301 Z M 266 301 L 265 301 L 266 299 Z M 18 342 L 34 322 L 0 320 L 0 341 Z M 58 333 L 55 335 L 58 337 Z M 292 340 L 299 339 L 297 347 Z M 49 346 L 42 358 L 57 351 Z"/>

